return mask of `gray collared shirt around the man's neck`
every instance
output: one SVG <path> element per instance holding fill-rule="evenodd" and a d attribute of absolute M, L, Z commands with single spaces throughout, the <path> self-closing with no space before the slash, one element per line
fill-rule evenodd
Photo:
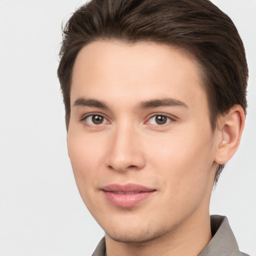
<path fill-rule="evenodd" d="M 211 215 L 210 227 L 212 238 L 198 256 L 249 256 L 239 251 L 234 234 L 225 216 Z M 105 250 L 105 238 L 103 237 L 92 256 L 104 256 Z"/>

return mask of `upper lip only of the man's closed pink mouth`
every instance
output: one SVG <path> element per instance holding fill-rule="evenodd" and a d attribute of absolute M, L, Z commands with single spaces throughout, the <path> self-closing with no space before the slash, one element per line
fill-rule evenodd
<path fill-rule="evenodd" d="M 155 191 L 154 188 L 149 188 L 140 184 L 134 184 L 134 183 L 127 183 L 127 184 L 108 184 L 104 187 L 102 187 L 102 190 L 104 191 L 111 191 L 111 192 L 150 192 Z"/>

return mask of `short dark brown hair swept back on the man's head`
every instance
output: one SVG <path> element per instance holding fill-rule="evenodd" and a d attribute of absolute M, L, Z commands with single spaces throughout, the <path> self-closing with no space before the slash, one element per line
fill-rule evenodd
<path fill-rule="evenodd" d="M 72 68 L 77 53 L 97 40 L 153 41 L 191 52 L 202 71 L 212 130 L 234 104 L 246 110 L 248 67 L 232 20 L 209 0 L 91 0 L 63 28 L 58 78 L 70 118 Z M 223 165 L 216 170 L 215 182 Z"/>

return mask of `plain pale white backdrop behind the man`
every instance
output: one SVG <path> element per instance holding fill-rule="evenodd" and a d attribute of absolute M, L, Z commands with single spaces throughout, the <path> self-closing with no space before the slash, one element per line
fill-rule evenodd
<path fill-rule="evenodd" d="M 249 65 L 240 147 L 213 191 L 242 251 L 256 255 L 256 0 L 214 0 Z M 61 22 L 81 0 L 0 0 L 0 255 L 91 255 L 103 231 L 76 188 L 56 76 Z"/>

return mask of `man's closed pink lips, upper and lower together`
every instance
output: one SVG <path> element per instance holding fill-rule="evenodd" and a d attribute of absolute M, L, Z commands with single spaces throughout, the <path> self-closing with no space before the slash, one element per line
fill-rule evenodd
<path fill-rule="evenodd" d="M 133 207 L 152 195 L 156 189 L 139 184 L 109 184 L 102 188 L 106 199 L 119 207 Z"/>

